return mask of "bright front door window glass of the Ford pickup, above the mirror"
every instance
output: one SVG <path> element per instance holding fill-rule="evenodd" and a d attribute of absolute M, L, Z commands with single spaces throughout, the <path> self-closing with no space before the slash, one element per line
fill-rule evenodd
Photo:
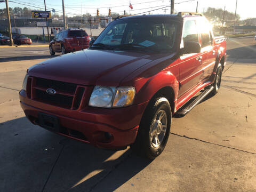
<path fill-rule="evenodd" d="M 196 22 L 194 20 L 188 20 L 185 22 L 183 28 L 183 43 L 186 42 L 198 42 L 198 33 L 196 28 Z"/>

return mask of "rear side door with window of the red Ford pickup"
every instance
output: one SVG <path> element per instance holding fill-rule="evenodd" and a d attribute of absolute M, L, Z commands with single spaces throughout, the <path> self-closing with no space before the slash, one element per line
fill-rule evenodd
<path fill-rule="evenodd" d="M 216 53 L 213 46 L 213 36 L 211 31 L 210 23 L 205 18 L 199 18 L 197 20 L 197 27 L 199 33 L 201 34 L 201 46 L 202 50 L 202 70 L 203 79 L 202 81 L 207 81 L 213 71 L 215 65 Z"/>

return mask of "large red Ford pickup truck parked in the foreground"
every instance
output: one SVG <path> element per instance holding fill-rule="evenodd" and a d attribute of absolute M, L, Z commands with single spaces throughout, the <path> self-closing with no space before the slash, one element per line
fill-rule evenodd
<path fill-rule="evenodd" d="M 90 44 L 27 70 L 26 117 L 100 148 L 131 145 L 151 159 L 165 148 L 174 114 L 218 93 L 226 63 L 226 39 L 214 38 L 198 13 L 117 19 Z"/>

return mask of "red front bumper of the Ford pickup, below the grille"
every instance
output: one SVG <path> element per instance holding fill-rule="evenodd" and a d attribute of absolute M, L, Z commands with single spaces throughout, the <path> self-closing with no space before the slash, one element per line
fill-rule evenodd
<path fill-rule="evenodd" d="M 78 111 L 28 99 L 26 92 L 21 90 L 20 105 L 33 124 L 38 125 L 38 113 L 53 115 L 59 119 L 58 134 L 99 148 L 122 149 L 135 141 L 147 102 L 125 108 Z M 112 137 L 107 137 L 106 133 Z"/>

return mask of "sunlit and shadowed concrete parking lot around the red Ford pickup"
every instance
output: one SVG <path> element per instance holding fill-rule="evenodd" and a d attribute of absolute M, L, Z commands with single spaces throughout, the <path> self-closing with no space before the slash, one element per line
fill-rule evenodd
<path fill-rule="evenodd" d="M 227 41 L 220 92 L 184 117 L 154 161 L 31 124 L 19 104 L 47 46 L 0 48 L 0 191 L 256 191 L 256 41 Z"/>

